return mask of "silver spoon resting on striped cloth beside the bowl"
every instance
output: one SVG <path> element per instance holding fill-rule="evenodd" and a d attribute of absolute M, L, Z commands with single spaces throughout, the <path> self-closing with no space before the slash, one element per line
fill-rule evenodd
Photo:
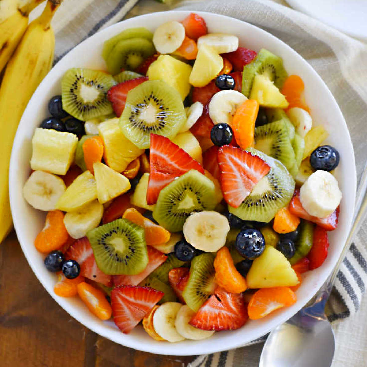
<path fill-rule="evenodd" d="M 325 314 L 325 305 L 333 289 L 339 266 L 353 236 L 366 217 L 366 189 L 367 164 L 357 192 L 353 225 L 333 273 L 307 306 L 271 331 L 262 349 L 259 367 L 329 367 L 331 365 L 335 351 L 335 337 Z"/>

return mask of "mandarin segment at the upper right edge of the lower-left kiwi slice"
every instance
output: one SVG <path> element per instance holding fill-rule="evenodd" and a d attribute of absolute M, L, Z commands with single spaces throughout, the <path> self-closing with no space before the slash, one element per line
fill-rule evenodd
<path fill-rule="evenodd" d="M 156 246 L 166 243 L 171 233 L 160 225 L 155 224 L 148 218 L 143 217 L 135 208 L 128 208 L 123 215 L 123 218 L 142 226 L 145 230 L 145 241 L 148 246 Z"/>

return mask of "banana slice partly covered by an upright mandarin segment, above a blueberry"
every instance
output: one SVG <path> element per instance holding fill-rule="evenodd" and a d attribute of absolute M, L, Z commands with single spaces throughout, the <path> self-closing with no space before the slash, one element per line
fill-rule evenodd
<path fill-rule="evenodd" d="M 242 93 L 233 90 L 219 91 L 209 103 L 209 116 L 214 124 L 230 124 L 237 108 L 246 101 Z"/>

